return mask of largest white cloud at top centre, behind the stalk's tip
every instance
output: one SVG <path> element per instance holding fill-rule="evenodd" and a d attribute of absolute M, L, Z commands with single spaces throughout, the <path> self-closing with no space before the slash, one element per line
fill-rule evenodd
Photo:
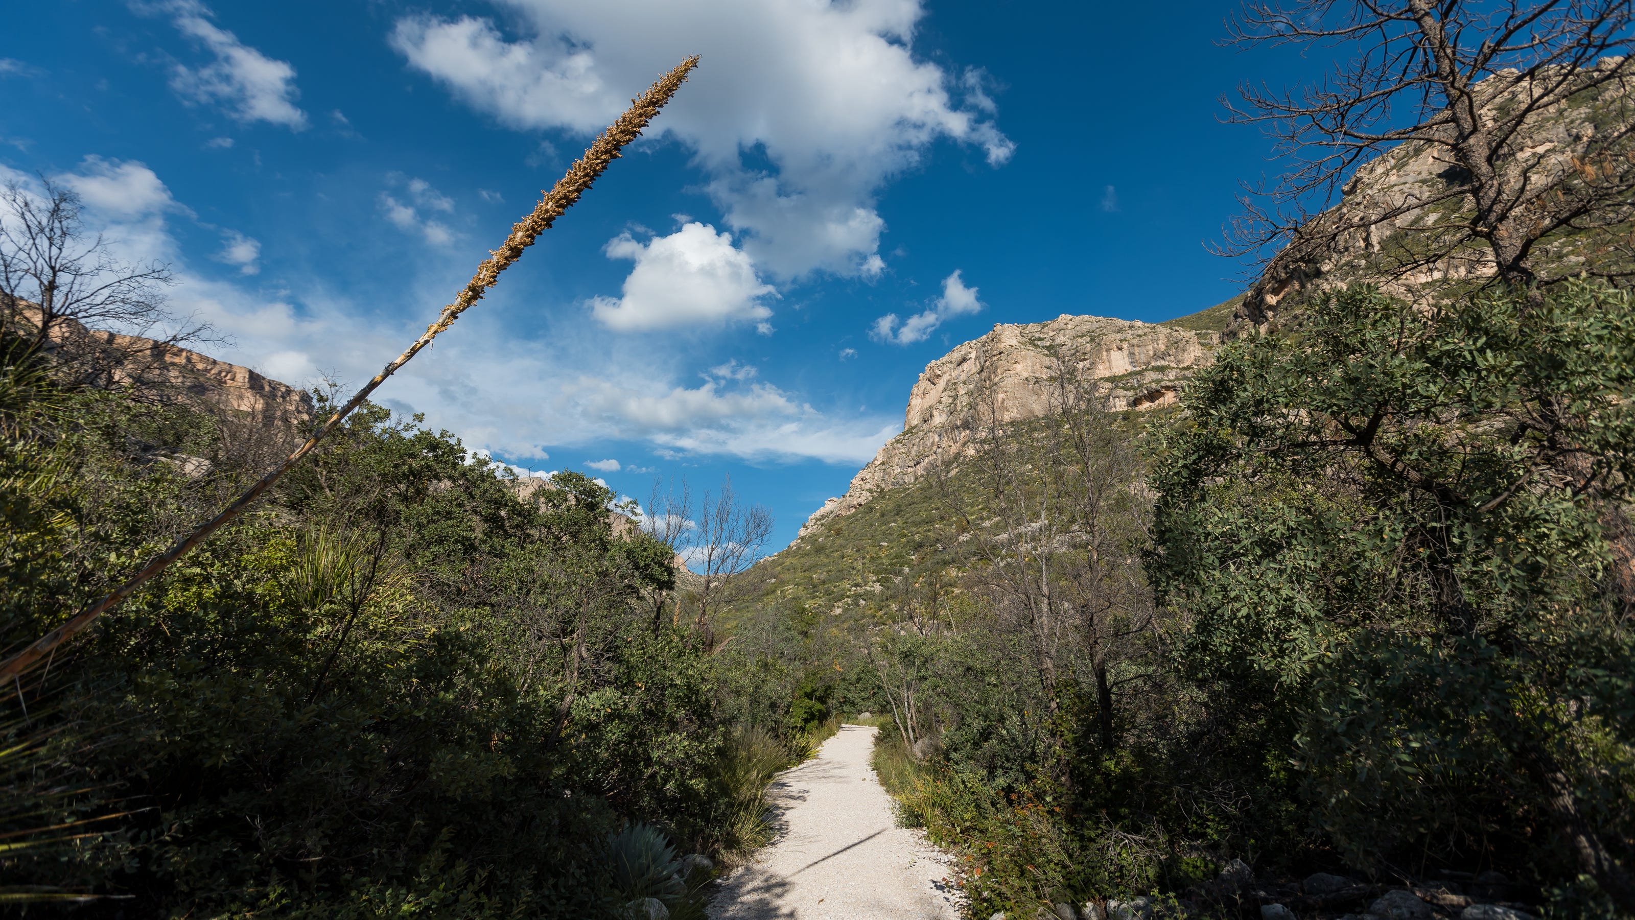
<path fill-rule="evenodd" d="M 775 278 L 878 275 L 875 194 L 891 176 L 938 139 L 979 147 L 992 165 L 1014 150 L 989 119 L 981 72 L 955 75 L 916 56 L 922 0 L 492 2 L 530 34 L 505 36 L 487 18 L 410 15 L 391 44 L 505 124 L 584 134 L 623 111 L 656 69 L 701 54 L 654 131 L 693 149 L 728 227 Z"/>

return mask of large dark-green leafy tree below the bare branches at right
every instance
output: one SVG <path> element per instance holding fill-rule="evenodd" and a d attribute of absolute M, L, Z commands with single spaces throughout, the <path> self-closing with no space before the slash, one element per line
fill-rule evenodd
<path fill-rule="evenodd" d="M 1187 677 L 1249 704 L 1352 866 L 1635 856 L 1632 395 L 1635 307 L 1584 283 L 1352 289 L 1195 381 L 1148 569 Z"/>

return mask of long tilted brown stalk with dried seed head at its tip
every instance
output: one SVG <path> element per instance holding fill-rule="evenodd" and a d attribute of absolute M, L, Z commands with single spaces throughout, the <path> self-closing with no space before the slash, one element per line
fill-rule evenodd
<path fill-rule="evenodd" d="M 386 377 L 392 376 L 397 371 L 397 368 L 407 364 L 409 360 L 419 355 L 422 348 L 430 345 L 432 340 L 437 338 L 440 332 L 453 325 L 455 320 L 459 319 L 459 314 L 466 312 L 468 307 L 481 301 L 482 294 L 495 283 L 499 283 L 500 271 L 505 271 L 507 268 L 512 266 L 512 263 L 522 258 L 522 252 L 531 247 L 535 240 L 540 239 L 540 234 L 551 229 L 551 224 L 554 224 L 556 219 L 561 217 L 564 211 L 567 211 L 569 208 L 574 206 L 574 203 L 579 201 L 579 198 L 590 188 L 590 185 L 597 180 L 597 176 L 600 176 L 608 168 L 608 163 L 621 157 L 620 150 L 626 144 L 634 141 L 641 134 L 641 129 L 646 127 L 647 123 L 652 121 L 656 114 L 659 114 L 659 109 L 664 108 L 667 101 L 670 101 L 670 96 L 674 96 L 675 90 L 679 90 L 682 83 L 687 82 L 687 75 L 697 65 L 698 65 L 698 56 L 695 54 L 687 60 L 677 64 L 674 70 L 670 70 L 669 74 L 664 75 L 664 78 L 649 87 L 646 93 L 631 100 L 631 106 L 625 109 L 625 114 L 621 114 L 618 121 L 608 126 L 607 131 L 597 136 L 595 142 L 590 144 L 590 149 L 585 150 L 584 159 L 579 159 L 574 162 L 574 165 L 567 167 L 567 175 L 558 180 L 556 186 L 553 186 L 551 191 L 544 193 L 544 196 L 540 199 L 540 204 L 535 206 L 533 212 L 518 221 L 515 226 L 512 226 L 512 232 L 508 237 L 505 237 L 505 242 L 500 245 L 500 248 L 490 252 L 489 258 L 482 260 L 482 265 L 477 266 L 477 273 L 471 276 L 471 281 L 464 286 L 464 289 L 459 291 L 459 296 L 455 297 L 455 302 L 443 307 L 443 312 L 441 315 L 438 315 L 437 322 L 428 325 L 427 330 L 420 335 L 420 338 L 415 338 L 414 343 L 402 355 L 399 355 L 389 364 L 386 364 L 386 368 L 379 374 L 374 374 L 374 379 L 371 379 L 368 384 L 363 386 L 363 389 L 353 394 L 353 397 L 347 400 L 345 405 L 337 409 L 324 422 L 324 425 L 320 425 L 312 433 L 312 436 L 306 440 L 304 444 L 296 448 L 296 451 L 288 458 L 284 458 L 284 461 L 280 462 L 276 467 L 273 467 L 271 472 L 263 476 L 255 485 L 252 485 L 249 490 L 239 495 L 231 505 L 222 508 L 219 515 L 216 515 L 209 521 L 204 521 L 198 529 L 177 541 L 170 549 L 150 559 L 147 565 L 142 565 L 142 569 L 129 580 L 126 580 L 123 585 L 110 592 L 96 603 L 74 614 L 74 618 L 64 623 L 62 626 L 57 626 L 51 632 L 46 632 L 44 636 L 36 639 L 34 644 L 28 645 L 21 652 L 11 655 L 3 663 L 0 663 L 0 685 L 11 681 L 16 677 L 28 672 L 36 662 L 39 662 L 39 659 L 51 654 L 52 649 L 69 641 L 69 637 L 72 637 L 75 632 L 80 632 L 82 629 L 95 623 L 98 616 L 118 606 L 119 601 L 123 601 L 131 595 L 131 592 L 134 592 L 136 588 L 142 587 L 146 582 L 164 572 L 177 559 L 186 556 L 188 551 L 191 551 L 195 546 L 209 538 L 209 534 L 216 533 L 217 529 L 231 523 L 234 518 L 244 513 L 244 510 L 249 508 L 257 498 L 260 498 L 263 492 L 267 492 L 268 489 L 273 487 L 273 484 L 283 479 L 283 476 L 289 472 L 289 469 L 294 464 L 298 464 L 301 458 L 312 453 L 312 449 L 319 444 L 319 441 L 327 438 L 337 427 L 340 427 L 342 420 L 345 420 L 347 415 L 352 413 L 352 410 L 358 409 L 358 405 L 361 405 L 363 400 L 368 399 L 370 394 L 376 391 L 376 387 L 386 382 Z"/>

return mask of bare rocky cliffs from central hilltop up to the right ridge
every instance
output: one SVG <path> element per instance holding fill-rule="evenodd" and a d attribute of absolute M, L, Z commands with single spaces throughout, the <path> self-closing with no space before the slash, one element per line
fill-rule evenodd
<path fill-rule="evenodd" d="M 1596 67 L 1607 69 L 1617 60 L 1604 59 Z M 1489 87 L 1511 87 L 1506 80 L 1489 80 Z M 1485 106 L 1496 111 L 1516 105 L 1516 92 L 1514 87 L 1504 93 L 1489 90 Z M 1597 88 L 1594 98 L 1573 96 L 1539 113 L 1525 132 L 1511 139 L 1514 150 L 1506 155 L 1529 175 L 1606 172 L 1583 157 L 1597 137 L 1627 132 L 1630 109 L 1630 93 L 1614 85 Z M 1630 159 L 1635 162 L 1635 152 Z M 886 490 L 912 485 L 965 451 L 971 400 L 978 394 L 992 395 L 1001 422 L 1041 415 L 1056 355 L 1079 376 L 1100 381 L 1115 409 L 1161 409 L 1176 404 L 1185 379 L 1210 363 L 1223 338 L 1265 327 L 1280 306 L 1313 293 L 1367 281 L 1411 297 L 1457 291 L 1462 281 L 1493 276 L 1494 263 L 1480 248 L 1457 248 L 1429 263 L 1416 257 L 1422 240 L 1444 224 L 1458 224 L 1470 208 L 1465 181 L 1445 147 L 1401 144 L 1360 167 L 1341 201 L 1303 224 L 1239 297 L 1156 325 L 1066 314 L 1038 324 L 996 325 L 925 366 L 909 392 L 903 433 L 880 448 L 845 495 L 814 511 L 800 534 L 850 515 Z M 1547 270 L 1540 276 L 1576 273 L 1575 266 L 1586 258 L 1604 258 L 1606 242 L 1604 232 L 1553 235 L 1535 257 Z"/>

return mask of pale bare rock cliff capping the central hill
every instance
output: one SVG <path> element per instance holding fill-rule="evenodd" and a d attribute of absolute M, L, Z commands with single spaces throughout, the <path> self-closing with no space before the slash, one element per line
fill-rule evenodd
<path fill-rule="evenodd" d="M 801 528 L 849 515 L 886 489 L 912 485 L 970 446 L 973 400 L 1001 423 L 1041 417 L 1051 381 L 1066 371 L 1100 382 L 1113 409 L 1172 405 L 1182 382 L 1208 364 L 1220 333 L 1063 314 L 1050 322 L 1001 324 L 925 366 L 909 392 L 903 433 L 886 441 L 853 479 Z"/>

